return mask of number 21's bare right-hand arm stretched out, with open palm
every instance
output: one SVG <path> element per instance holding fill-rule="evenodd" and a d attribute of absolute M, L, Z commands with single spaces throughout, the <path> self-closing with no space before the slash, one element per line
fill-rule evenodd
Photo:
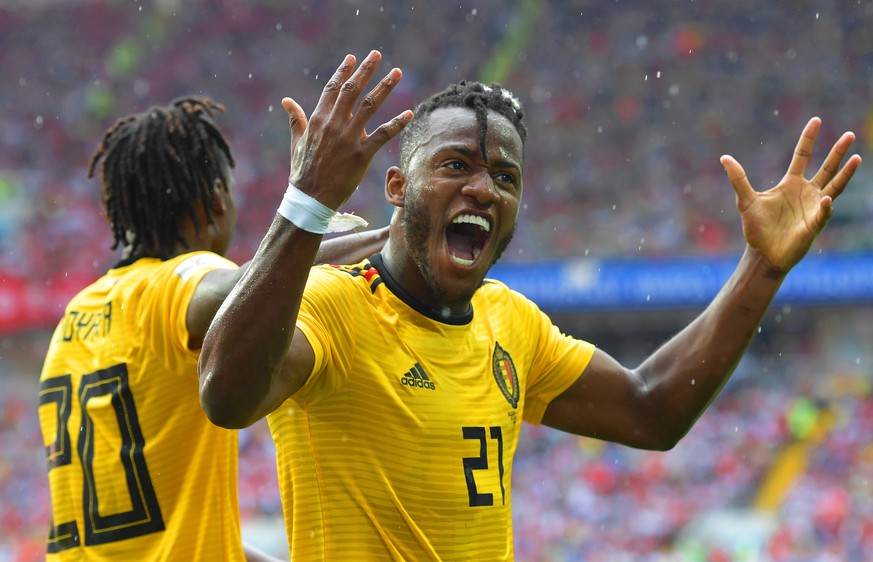
<path fill-rule="evenodd" d="M 809 251 L 861 158 L 840 168 L 854 135 L 845 133 L 806 179 L 821 127 L 811 119 L 788 172 L 757 192 L 742 166 L 722 156 L 736 193 L 746 250 L 713 302 L 635 369 L 596 351 L 585 372 L 546 410 L 543 423 L 645 449 L 666 450 L 684 436 L 718 394 L 748 347 L 788 271 Z"/>

